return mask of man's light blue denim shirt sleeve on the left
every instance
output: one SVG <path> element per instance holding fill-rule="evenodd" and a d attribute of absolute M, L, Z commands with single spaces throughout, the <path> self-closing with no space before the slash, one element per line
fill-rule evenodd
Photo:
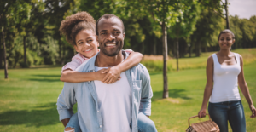
<path fill-rule="evenodd" d="M 71 118 L 73 115 L 73 105 L 76 103 L 74 88 L 77 83 L 64 83 L 64 87 L 57 100 L 57 110 L 60 121 Z"/>

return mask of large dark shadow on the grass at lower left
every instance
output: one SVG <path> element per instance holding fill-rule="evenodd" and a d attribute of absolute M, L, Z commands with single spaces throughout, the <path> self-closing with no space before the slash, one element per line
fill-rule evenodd
<path fill-rule="evenodd" d="M 56 103 L 33 107 L 29 110 L 17 110 L 0 113 L 0 125 L 45 126 L 60 123 Z"/>

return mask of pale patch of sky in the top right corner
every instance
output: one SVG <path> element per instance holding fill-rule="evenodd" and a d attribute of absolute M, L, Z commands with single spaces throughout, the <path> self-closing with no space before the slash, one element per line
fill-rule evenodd
<path fill-rule="evenodd" d="M 224 0 L 223 0 L 224 2 Z M 256 15 L 256 0 L 229 0 L 229 15 L 238 15 L 241 19 L 250 19 Z"/>

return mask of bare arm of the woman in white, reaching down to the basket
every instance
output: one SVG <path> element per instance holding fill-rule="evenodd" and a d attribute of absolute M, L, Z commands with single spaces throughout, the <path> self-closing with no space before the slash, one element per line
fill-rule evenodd
<path fill-rule="evenodd" d="M 212 95 L 212 83 L 213 83 L 213 58 L 210 56 L 207 60 L 207 84 L 204 92 L 204 98 L 201 105 L 201 110 L 198 112 L 199 118 L 205 117 L 207 112 L 207 103 Z"/>

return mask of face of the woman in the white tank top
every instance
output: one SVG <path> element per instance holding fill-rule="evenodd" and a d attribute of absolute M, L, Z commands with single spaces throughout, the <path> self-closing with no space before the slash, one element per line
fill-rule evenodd
<path fill-rule="evenodd" d="M 233 43 L 235 43 L 235 39 L 230 33 L 222 33 L 218 39 L 220 49 L 230 49 Z"/>

